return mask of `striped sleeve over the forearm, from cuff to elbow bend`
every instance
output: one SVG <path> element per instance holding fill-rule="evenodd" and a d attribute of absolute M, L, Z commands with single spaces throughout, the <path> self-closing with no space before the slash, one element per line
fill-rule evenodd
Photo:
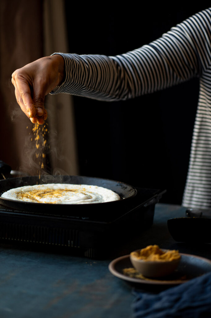
<path fill-rule="evenodd" d="M 61 54 L 65 61 L 65 79 L 51 93 L 70 93 L 99 100 L 122 99 L 119 87 L 122 70 L 104 55 Z M 123 72 L 122 72 L 123 73 Z"/>

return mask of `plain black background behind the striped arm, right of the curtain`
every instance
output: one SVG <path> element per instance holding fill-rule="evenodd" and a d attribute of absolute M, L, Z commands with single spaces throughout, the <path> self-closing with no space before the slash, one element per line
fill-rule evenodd
<path fill-rule="evenodd" d="M 162 36 L 209 4 L 167 7 L 130 2 L 73 5 L 66 0 L 69 52 L 116 55 Z M 121 7 L 120 7 L 121 6 Z M 133 100 L 74 97 L 80 174 L 167 189 L 181 204 L 189 164 L 199 79 Z"/>

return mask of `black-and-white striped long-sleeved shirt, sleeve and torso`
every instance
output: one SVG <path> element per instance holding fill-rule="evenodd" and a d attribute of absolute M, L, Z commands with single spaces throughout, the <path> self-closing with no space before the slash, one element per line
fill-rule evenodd
<path fill-rule="evenodd" d="M 211 8 L 125 54 L 54 54 L 63 56 L 66 78 L 52 93 L 126 100 L 198 77 L 200 92 L 182 205 L 211 208 Z"/>

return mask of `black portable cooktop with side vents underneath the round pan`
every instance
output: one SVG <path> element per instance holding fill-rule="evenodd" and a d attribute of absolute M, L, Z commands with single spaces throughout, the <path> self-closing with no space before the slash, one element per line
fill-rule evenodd
<path fill-rule="evenodd" d="M 136 188 L 127 211 L 107 211 L 94 216 L 45 214 L 0 206 L 0 243 L 80 252 L 89 258 L 109 253 L 153 224 L 155 204 L 165 190 Z"/>

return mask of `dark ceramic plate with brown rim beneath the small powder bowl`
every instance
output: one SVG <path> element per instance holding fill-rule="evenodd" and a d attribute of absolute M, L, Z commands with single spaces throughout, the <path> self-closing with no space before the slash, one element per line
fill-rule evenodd
<path fill-rule="evenodd" d="M 114 259 L 109 264 L 109 271 L 116 277 L 123 280 L 129 281 L 131 283 L 140 283 L 140 284 L 159 284 L 159 285 L 176 285 L 185 283 L 186 281 L 203 275 L 205 273 L 211 272 L 211 260 L 189 254 L 180 253 L 181 260 L 178 268 L 169 276 L 162 278 L 145 278 L 136 277 L 136 274 L 133 277 L 124 274 L 123 269 L 133 268 L 130 255 L 125 255 Z M 138 274 L 138 273 L 137 273 Z M 139 275 L 140 276 L 140 275 Z"/>

